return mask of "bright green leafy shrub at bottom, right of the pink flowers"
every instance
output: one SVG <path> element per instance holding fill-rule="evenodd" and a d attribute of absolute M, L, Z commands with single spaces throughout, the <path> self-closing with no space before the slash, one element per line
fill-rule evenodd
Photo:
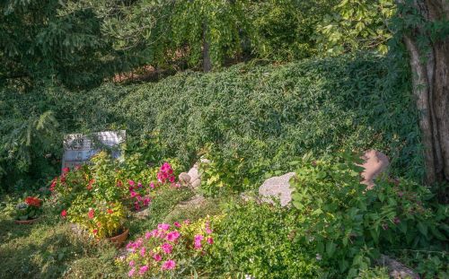
<path fill-rule="evenodd" d="M 307 247 L 294 241 L 295 214 L 270 205 L 229 205 L 215 227 L 211 277 L 318 278 L 321 268 Z"/>

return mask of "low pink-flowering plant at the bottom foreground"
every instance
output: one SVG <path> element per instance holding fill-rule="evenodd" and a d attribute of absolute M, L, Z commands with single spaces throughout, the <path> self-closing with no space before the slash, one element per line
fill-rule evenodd
<path fill-rule="evenodd" d="M 128 266 L 129 276 L 167 272 L 174 275 L 192 266 L 195 258 L 207 255 L 214 244 L 213 220 L 160 223 L 153 231 L 146 231 L 143 237 L 130 241 L 127 245 L 129 254 L 120 263 Z"/>

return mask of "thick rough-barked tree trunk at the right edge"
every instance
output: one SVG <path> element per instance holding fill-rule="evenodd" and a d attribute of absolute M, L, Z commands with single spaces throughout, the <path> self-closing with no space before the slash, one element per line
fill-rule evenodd
<path fill-rule="evenodd" d="M 416 0 L 414 7 L 427 22 L 449 19 L 446 0 Z M 429 46 L 418 45 L 426 36 Z M 419 110 L 419 126 L 425 146 L 427 184 L 449 181 L 449 37 L 431 39 L 418 26 L 404 42 L 409 50 L 413 93 Z"/>

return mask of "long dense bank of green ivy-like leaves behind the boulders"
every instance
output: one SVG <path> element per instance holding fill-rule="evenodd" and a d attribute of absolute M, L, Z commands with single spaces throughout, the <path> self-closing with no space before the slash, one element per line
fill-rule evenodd
<path fill-rule="evenodd" d="M 410 170 L 407 164 L 419 175 L 409 76 L 387 74 L 385 60 L 362 54 L 236 65 L 214 74 L 177 74 L 160 83 L 106 84 L 88 94 L 124 96 L 110 111 L 119 114 L 129 135 L 157 130 L 176 153 L 171 155 L 183 159 L 214 143 L 225 157 L 281 168 L 309 151 L 376 148 L 401 171 Z"/>

